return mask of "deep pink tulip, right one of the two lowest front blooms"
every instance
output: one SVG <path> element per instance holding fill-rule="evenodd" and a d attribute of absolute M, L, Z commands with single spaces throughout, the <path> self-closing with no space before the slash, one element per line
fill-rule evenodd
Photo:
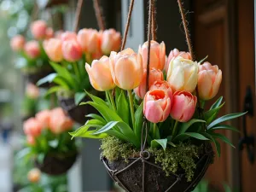
<path fill-rule="evenodd" d="M 195 113 L 197 98 L 187 91 L 176 91 L 173 94 L 171 116 L 180 122 L 187 122 Z"/>

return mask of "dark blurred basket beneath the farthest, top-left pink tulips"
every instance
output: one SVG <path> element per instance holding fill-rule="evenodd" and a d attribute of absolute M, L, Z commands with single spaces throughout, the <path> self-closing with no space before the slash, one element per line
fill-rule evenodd
<path fill-rule="evenodd" d="M 37 84 L 38 80 L 43 79 L 50 73 L 54 73 L 54 70 L 51 67 L 43 67 L 34 72 L 24 73 L 24 77 L 29 83 Z M 49 87 L 49 83 L 41 84 L 39 87 L 47 88 Z"/>

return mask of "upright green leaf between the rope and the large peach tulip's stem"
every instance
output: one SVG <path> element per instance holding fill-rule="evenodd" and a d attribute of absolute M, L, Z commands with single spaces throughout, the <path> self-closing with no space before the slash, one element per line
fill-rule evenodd
<path fill-rule="evenodd" d="M 138 139 L 142 137 L 142 130 L 143 130 L 143 102 L 137 108 L 135 112 L 135 127 L 134 133 Z"/>

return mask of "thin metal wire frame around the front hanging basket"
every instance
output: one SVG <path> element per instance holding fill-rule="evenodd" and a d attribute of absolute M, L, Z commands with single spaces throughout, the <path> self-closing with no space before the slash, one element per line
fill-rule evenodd
<path fill-rule="evenodd" d="M 207 168 L 208 166 L 212 163 L 212 159 L 214 156 L 213 150 L 212 150 L 212 145 L 210 143 L 206 143 L 205 146 L 205 153 L 201 156 L 200 160 L 198 160 L 196 162 L 196 166 L 200 165 L 201 161 L 204 160 L 205 158 L 207 158 L 205 165 L 202 167 L 201 172 L 194 177 L 194 180 L 189 184 L 189 187 L 187 189 L 184 190 L 184 192 L 190 192 L 192 190 L 195 189 L 195 186 L 201 181 L 201 178 L 204 176 L 204 174 L 207 172 Z M 122 172 L 125 172 L 126 170 L 130 169 L 131 166 L 134 166 L 137 162 L 141 161 L 143 164 L 143 177 L 142 177 L 142 183 L 143 183 L 143 189 L 142 192 L 146 192 L 145 191 L 145 164 L 148 164 L 150 166 L 154 166 L 160 170 L 163 170 L 163 168 L 161 166 L 158 166 L 150 161 L 148 161 L 150 158 L 153 158 L 150 156 L 150 153 L 147 150 L 144 150 L 143 152 L 141 152 L 141 155 L 139 158 L 131 158 L 129 160 L 134 160 L 130 165 L 126 166 L 124 169 L 122 170 L 112 170 L 109 166 L 108 166 L 108 160 L 105 157 L 101 156 L 101 160 L 103 165 L 106 167 L 108 174 L 110 177 L 112 177 L 112 179 L 119 184 L 119 186 L 123 189 L 125 189 L 127 192 L 132 192 L 131 190 L 129 190 L 124 183 L 122 183 L 119 179 L 119 174 Z M 146 156 L 146 155 L 147 156 Z M 166 189 L 165 192 L 171 191 L 171 189 L 173 189 L 174 186 L 177 186 L 177 184 L 182 181 L 182 179 L 186 179 L 184 176 L 184 174 L 175 174 L 175 173 L 171 173 L 172 177 L 176 177 L 176 181 L 174 183 L 172 183 L 172 185 Z"/>

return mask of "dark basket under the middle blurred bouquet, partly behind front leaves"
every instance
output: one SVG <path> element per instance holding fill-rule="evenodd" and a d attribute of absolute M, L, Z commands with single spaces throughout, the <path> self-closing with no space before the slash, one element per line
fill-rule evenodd
<path fill-rule="evenodd" d="M 84 98 L 83 102 L 88 102 L 87 98 Z M 63 108 L 69 117 L 76 121 L 77 123 L 84 125 L 86 122 L 85 115 L 90 113 L 97 113 L 95 108 L 92 108 L 90 105 L 81 105 L 78 106 L 75 104 L 74 98 L 59 98 L 59 103 L 61 108 Z"/>

